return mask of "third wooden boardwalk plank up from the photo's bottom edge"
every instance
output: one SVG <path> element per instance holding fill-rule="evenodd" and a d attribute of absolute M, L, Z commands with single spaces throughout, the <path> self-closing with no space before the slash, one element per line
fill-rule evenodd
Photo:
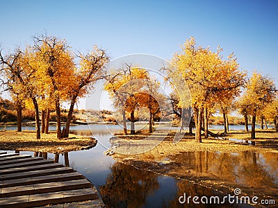
<path fill-rule="evenodd" d="M 56 191 L 69 191 L 73 189 L 90 188 L 91 183 L 86 179 L 70 180 L 65 182 L 49 182 L 41 184 L 32 184 L 19 187 L 8 187 L 1 189 L 0 198 L 12 196 L 33 195 L 38 193 L 48 193 Z"/>

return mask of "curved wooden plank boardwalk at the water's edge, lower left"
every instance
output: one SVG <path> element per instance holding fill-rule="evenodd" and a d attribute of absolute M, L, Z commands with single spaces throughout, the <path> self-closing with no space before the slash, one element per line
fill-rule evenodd
<path fill-rule="evenodd" d="M 0 207 L 104 207 L 80 173 L 54 161 L 0 152 Z"/>

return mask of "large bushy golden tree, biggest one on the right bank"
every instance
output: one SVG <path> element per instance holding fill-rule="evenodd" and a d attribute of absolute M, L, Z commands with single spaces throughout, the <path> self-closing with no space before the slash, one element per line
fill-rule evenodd
<path fill-rule="evenodd" d="M 238 94 L 244 83 L 245 73 L 238 69 L 234 55 L 229 55 L 228 60 L 222 60 L 221 51 L 219 47 L 213 52 L 209 48 L 196 46 L 195 39 L 190 37 L 172 58 L 172 65 L 176 69 L 173 73 L 177 71 L 181 74 L 186 81 L 184 85 L 190 89 L 197 142 L 202 142 L 204 110 L 223 97 Z"/>

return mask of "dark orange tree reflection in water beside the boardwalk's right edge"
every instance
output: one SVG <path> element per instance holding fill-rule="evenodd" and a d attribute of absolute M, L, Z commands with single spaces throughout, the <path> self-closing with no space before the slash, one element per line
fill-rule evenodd
<path fill-rule="evenodd" d="M 115 163 L 99 187 L 106 207 L 142 207 L 147 196 L 159 188 L 155 173 L 141 171 L 132 166 Z"/>

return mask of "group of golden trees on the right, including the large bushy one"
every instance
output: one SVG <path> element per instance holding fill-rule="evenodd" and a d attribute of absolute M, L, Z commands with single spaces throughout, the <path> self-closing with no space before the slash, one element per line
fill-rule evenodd
<path fill-rule="evenodd" d="M 277 123 L 277 88 L 271 78 L 254 72 L 250 79 L 247 73 L 239 70 L 233 53 L 224 60 L 218 47 L 216 52 L 209 48 L 196 46 L 195 39 L 181 46 L 181 51 L 174 54 L 171 67 L 165 71 L 170 83 L 183 81 L 188 85 L 191 103 L 184 105 L 183 96 L 178 96 L 178 107 L 193 107 L 196 123 L 195 139 L 202 142 L 201 131 L 208 137 L 208 118 L 213 112 L 221 112 L 224 119 L 224 133 L 227 133 L 227 114 L 239 110 L 245 116 L 252 116 L 251 138 L 255 138 L 256 116 L 263 118 L 272 115 Z M 240 96 L 238 98 L 238 96 Z M 277 130 L 278 126 L 276 125 Z"/>

